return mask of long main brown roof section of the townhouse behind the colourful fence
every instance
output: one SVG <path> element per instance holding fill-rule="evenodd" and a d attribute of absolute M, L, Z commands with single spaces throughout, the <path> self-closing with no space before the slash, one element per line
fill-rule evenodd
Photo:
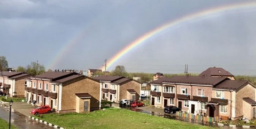
<path fill-rule="evenodd" d="M 170 78 L 162 77 L 158 80 L 152 81 L 151 84 L 183 83 L 183 84 L 199 84 L 199 85 L 216 85 L 226 79 L 228 78 L 227 77 L 173 76 Z"/>

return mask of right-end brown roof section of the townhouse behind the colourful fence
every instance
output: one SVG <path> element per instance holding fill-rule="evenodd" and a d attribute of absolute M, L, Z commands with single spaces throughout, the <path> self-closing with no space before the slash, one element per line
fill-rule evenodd
<path fill-rule="evenodd" d="M 225 80 L 222 83 L 214 86 L 214 88 L 236 90 L 240 88 L 240 86 L 244 86 L 247 84 L 249 84 L 249 81 L 246 80 Z"/>

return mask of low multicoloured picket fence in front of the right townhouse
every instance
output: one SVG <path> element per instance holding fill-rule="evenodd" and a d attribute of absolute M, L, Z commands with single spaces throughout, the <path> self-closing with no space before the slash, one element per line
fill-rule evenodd
<path fill-rule="evenodd" d="M 194 115 L 190 114 L 188 112 L 176 112 L 176 116 L 185 117 L 191 120 L 198 120 L 198 121 L 205 121 L 205 122 L 217 122 L 220 120 L 220 117 L 207 117 L 207 116 L 200 116 L 200 115 Z"/>

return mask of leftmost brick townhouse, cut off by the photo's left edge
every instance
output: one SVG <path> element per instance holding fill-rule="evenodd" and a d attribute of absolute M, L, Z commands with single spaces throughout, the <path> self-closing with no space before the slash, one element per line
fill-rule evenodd
<path fill-rule="evenodd" d="M 25 79 L 32 75 L 24 72 L 3 71 L 0 72 L 1 91 L 10 97 L 24 97 Z"/>

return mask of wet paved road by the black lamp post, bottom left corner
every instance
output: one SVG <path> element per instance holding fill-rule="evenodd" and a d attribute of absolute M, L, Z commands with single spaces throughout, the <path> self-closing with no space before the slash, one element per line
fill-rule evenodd
<path fill-rule="evenodd" d="M 9 121 L 9 110 L 8 106 L 0 103 L 0 117 L 6 121 Z M 29 117 L 15 111 L 12 108 L 11 112 L 11 124 L 19 127 L 20 129 L 53 129 L 49 125 L 39 123 Z"/>

